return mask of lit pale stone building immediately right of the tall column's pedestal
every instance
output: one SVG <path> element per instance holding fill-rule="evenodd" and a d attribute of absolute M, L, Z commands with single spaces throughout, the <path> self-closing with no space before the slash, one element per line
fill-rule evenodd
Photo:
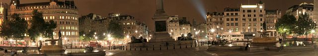
<path fill-rule="evenodd" d="M 186 17 L 170 16 L 166 22 L 168 33 L 174 40 L 178 40 L 177 38 L 181 37 L 182 34 L 187 35 L 191 32 L 191 24 Z"/>

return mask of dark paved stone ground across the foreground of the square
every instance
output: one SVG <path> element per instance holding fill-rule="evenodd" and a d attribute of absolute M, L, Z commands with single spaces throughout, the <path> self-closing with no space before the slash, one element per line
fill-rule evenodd
<path fill-rule="evenodd" d="M 169 49 L 161 51 L 123 51 L 107 50 L 105 56 L 318 56 L 318 50 L 313 51 L 207 51 L 207 46 Z"/>

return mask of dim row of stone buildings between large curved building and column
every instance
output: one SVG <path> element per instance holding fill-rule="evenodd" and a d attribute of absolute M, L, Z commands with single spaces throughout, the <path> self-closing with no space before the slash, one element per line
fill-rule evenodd
<path fill-rule="evenodd" d="M 108 24 L 111 20 L 119 21 L 124 30 L 125 37 L 135 36 L 136 38 L 143 37 L 145 39 L 150 39 L 151 34 L 148 30 L 148 26 L 135 20 L 135 17 L 130 15 L 121 15 L 117 13 L 109 13 L 108 17 L 102 17 L 98 14 L 90 13 L 79 18 L 79 31 L 83 33 L 88 33 L 90 31 L 95 31 L 96 36 L 105 37 L 111 32 L 107 30 Z M 127 40 L 127 38 L 125 38 Z M 130 38 L 128 38 L 130 41 Z"/>

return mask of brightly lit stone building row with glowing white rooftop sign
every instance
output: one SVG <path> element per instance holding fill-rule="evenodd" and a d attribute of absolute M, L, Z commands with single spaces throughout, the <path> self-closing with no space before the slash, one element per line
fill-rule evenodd
<path fill-rule="evenodd" d="M 208 37 L 228 40 L 242 40 L 259 37 L 257 31 L 263 30 L 263 22 L 276 37 L 275 23 L 281 17 L 280 10 L 265 10 L 265 3 L 259 1 L 254 5 L 243 5 L 237 8 L 224 8 L 224 12 L 207 13 Z M 268 18 L 268 19 L 267 19 Z M 212 32 L 214 31 L 214 32 Z"/>

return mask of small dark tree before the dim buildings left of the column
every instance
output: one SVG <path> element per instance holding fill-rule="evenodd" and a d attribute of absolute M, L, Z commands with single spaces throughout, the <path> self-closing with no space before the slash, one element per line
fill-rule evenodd
<path fill-rule="evenodd" d="M 115 20 L 111 20 L 108 28 L 107 28 L 108 32 L 111 32 L 112 37 L 114 37 L 114 39 L 123 39 L 124 38 L 124 31 L 122 28 L 122 25 Z"/>

